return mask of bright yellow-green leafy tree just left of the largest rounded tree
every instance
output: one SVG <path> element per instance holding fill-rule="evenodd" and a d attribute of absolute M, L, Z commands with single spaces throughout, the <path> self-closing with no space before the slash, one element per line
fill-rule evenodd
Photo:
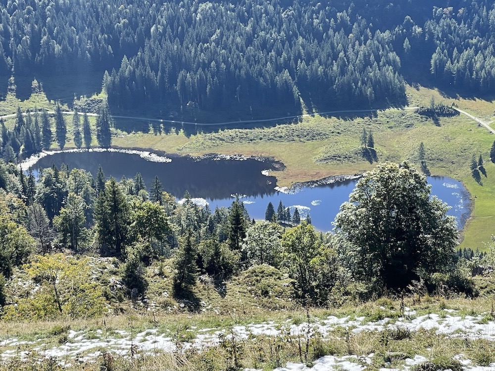
<path fill-rule="evenodd" d="M 282 265 L 296 281 L 296 291 L 306 306 L 326 301 L 335 277 L 334 262 L 326 261 L 329 254 L 314 227 L 302 222 L 282 235 Z M 325 267 L 325 272 L 318 270 Z"/>

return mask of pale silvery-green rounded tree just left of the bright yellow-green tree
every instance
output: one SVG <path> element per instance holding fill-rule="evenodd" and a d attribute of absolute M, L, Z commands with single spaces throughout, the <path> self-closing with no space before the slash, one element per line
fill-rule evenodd
<path fill-rule="evenodd" d="M 250 265 L 269 264 L 277 267 L 280 258 L 280 232 L 277 225 L 267 221 L 250 225 L 242 249 Z"/>

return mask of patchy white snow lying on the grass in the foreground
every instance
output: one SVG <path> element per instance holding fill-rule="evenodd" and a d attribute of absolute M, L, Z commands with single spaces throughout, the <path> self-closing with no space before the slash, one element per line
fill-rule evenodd
<path fill-rule="evenodd" d="M 396 319 L 384 318 L 380 321 L 368 322 L 364 317 L 334 317 L 315 321 L 308 327 L 307 323 L 294 325 L 290 320 L 277 324 L 267 322 L 262 324 L 239 325 L 232 329 L 190 329 L 192 339 L 181 344 L 182 348 L 209 347 L 220 343 L 222 336 L 235 336 L 239 340 L 256 338 L 258 335 L 277 336 L 287 334 L 294 336 L 306 336 L 308 333 L 318 331 L 323 337 L 338 328 L 344 328 L 351 333 L 361 331 L 383 331 L 386 329 L 403 328 L 411 332 L 420 329 L 434 330 L 438 334 L 466 339 L 486 339 L 495 341 L 495 322 L 487 321 L 484 316 L 461 316 L 455 311 L 445 310 L 441 314 L 429 314 L 416 316 L 414 311 L 406 312 L 403 317 Z M 73 331 L 67 334 L 63 344 L 53 346 L 46 345 L 46 339 L 36 341 L 18 340 L 15 338 L 4 338 L 0 340 L 1 357 L 3 359 L 13 356 L 24 357 L 29 351 L 36 351 L 46 357 L 57 357 L 62 364 L 70 364 L 74 360 L 91 361 L 97 358 L 102 351 L 115 352 L 125 355 L 132 349 L 141 352 L 172 352 L 176 349 L 176 343 L 171 333 L 161 334 L 156 329 L 148 329 L 140 333 L 132 333 L 126 330 L 113 331 Z M 194 337 L 195 336 L 195 337 Z M 22 350 L 21 350 L 22 349 Z M 276 371 L 296 370 L 348 370 L 361 371 L 366 364 L 370 364 L 373 354 L 354 356 L 325 356 L 317 360 L 311 368 L 302 364 L 288 363 L 284 368 Z M 469 359 L 462 354 L 456 356 L 466 371 L 495 371 L 495 363 L 487 367 L 473 365 Z M 381 369 L 381 371 L 404 370 L 407 371 L 413 365 L 426 362 L 423 356 L 416 355 L 403 361 L 400 369 Z"/>

